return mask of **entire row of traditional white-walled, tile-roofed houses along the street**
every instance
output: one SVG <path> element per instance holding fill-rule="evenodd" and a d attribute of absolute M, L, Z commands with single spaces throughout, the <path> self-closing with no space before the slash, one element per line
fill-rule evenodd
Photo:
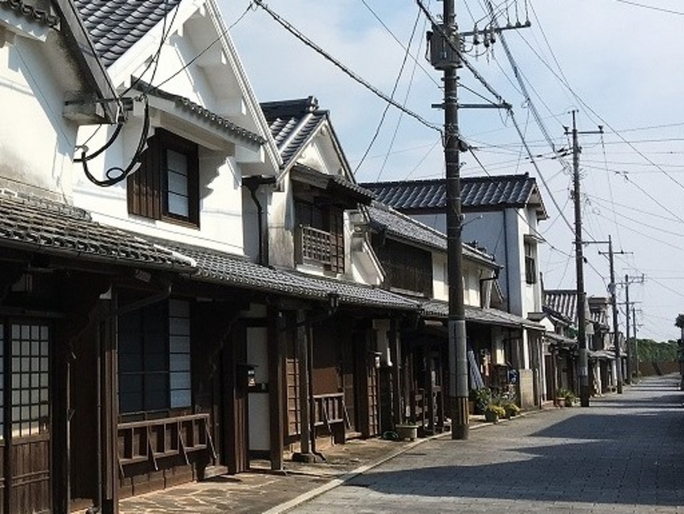
<path fill-rule="evenodd" d="M 257 101 L 214 0 L 0 0 L 0 116 L 0 512 L 449 429 L 443 183 L 357 184 L 313 96 Z M 540 191 L 463 191 L 472 385 L 540 407 L 577 353 Z"/>

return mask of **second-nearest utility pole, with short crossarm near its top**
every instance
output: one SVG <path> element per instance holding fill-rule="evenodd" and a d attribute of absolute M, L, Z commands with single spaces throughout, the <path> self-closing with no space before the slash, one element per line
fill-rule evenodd
<path fill-rule="evenodd" d="M 587 346 L 586 293 L 584 292 L 584 256 L 582 251 L 582 212 L 579 194 L 579 134 L 603 134 L 603 126 L 598 131 L 578 132 L 577 120 L 573 111 L 573 199 L 575 200 L 575 268 L 577 269 L 577 344 L 579 346 L 579 403 L 589 407 L 589 349 Z M 569 131 L 566 127 L 566 135 Z"/>

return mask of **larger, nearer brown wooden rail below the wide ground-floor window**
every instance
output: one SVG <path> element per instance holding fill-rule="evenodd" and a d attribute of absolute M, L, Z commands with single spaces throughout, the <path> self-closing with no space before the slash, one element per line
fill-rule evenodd
<path fill-rule="evenodd" d="M 119 467 L 152 461 L 159 470 L 157 459 L 182 455 L 189 464 L 188 454 L 210 450 L 216 457 L 209 433 L 209 414 L 192 414 L 177 418 L 133 421 L 118 424 Z"/>

